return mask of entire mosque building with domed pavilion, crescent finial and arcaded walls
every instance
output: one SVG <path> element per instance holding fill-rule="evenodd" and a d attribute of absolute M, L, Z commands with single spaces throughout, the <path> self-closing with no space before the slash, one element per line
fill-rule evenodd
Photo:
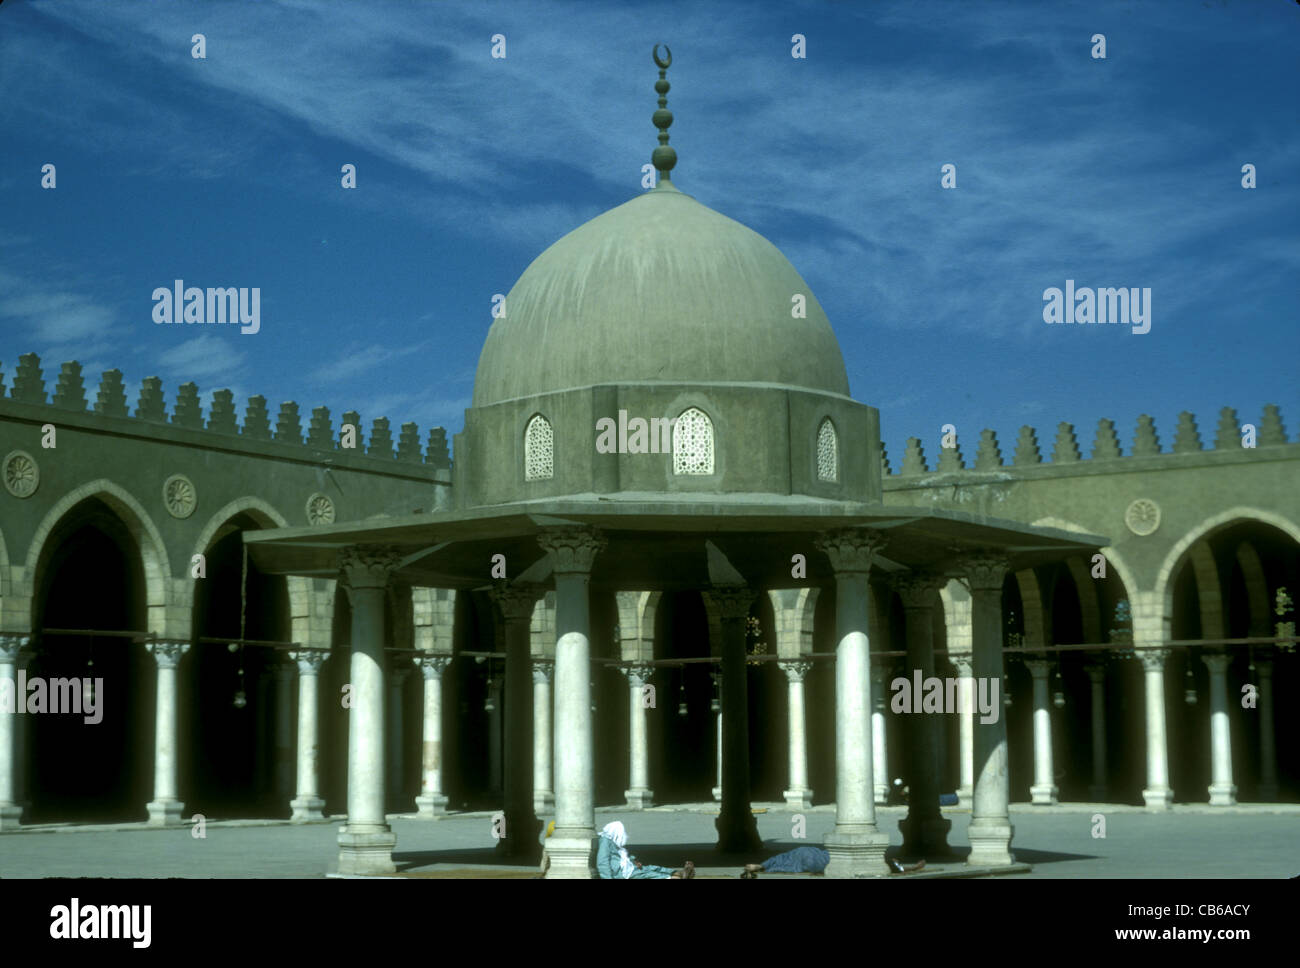
<path fill-rule="evenodd" d="M 1278 409 L 896 469 L 797 270 L 673 185 L 656 61 L 656 187 L 524 272 L 450 448 L 192 383 L 169 413 L 156 378 L 130 409 L 116 370 L 91 403 L 21 357 L 0 832 L 346 816 L 335 869 L 382 873 L 390 815 L 499 809 L 503 852 L 554 819 L 549 876 L 584 877 L 597 806 L 715 800 L 741 851 L 753 803 L 833 804 L 828 873 L 871 876 L 894 777 L 905 848 L 965 846 L 954 791 L 980 868 L 1011 800 L 1300 799 Z M 902 708 L 930 680 L 996 708 Z"/>

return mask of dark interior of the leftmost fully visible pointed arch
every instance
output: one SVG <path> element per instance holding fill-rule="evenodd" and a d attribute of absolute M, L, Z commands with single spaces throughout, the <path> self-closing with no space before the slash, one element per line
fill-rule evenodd
<path fill-rule="evenodd" d="M 107 504 L 78 504 L 46 548 L 38 565 L 35 628 L 144 629 L 144 569 L 134 538 Z M 26 821 L 144 820 L 153 780 L 152 657 L 131 638 L 39 634 L 32 646 L 29 681 L 48 686 L 49 680 L 75 680 L 77 695 L 60 687 L 61 700 L 81 703 L 84 678 L 101 678 L 103 685 L 96 689 L 99 722 L 86 722 L 88 706 L 82 704 L 81 715 L 25 715 L 17 724 L 27 752 L 20 758 L 27 764 Z"/>

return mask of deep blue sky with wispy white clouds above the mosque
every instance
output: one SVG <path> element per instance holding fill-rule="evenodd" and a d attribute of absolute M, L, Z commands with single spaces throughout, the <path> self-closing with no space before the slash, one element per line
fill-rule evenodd
<path fill-rule="evenodd" d="M 1140 413 L 1167 450 L 1183 409 L 1209 444 L 1223 405 L 1295 439 L 1297 38 L 1290 0 L 10 0 L 5 385 L 34 351 L 91 400 L 116 366 L 133 408 L 160 376 L 458 431 L 493 294 L 642 191 L 666 42 L 673 183 L 809 282 L 896 470 L 949 422 L 967 461 Z M 260 333 L 155 325 L 176 278 L 260 287 Z M 1152 288 L 1150 331 L 1046 325 L 1067 278 Z"/>

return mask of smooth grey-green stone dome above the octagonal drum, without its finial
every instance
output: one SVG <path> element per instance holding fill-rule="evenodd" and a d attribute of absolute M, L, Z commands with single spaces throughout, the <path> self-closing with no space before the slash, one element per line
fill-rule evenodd
<path fill-rule="evenodd" d="M 793 318 L 803 294 L 806 318 Z M 767 239 L 660 182 L 542 252 L 478 359 L 474 407 L 599 383 L 849 395 L 807 283 Z"/>

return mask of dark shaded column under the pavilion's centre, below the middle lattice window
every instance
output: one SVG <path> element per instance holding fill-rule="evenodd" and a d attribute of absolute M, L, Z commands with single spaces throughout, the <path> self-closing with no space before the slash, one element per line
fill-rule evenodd
<path fill-rule="evenodd" d="M 718 850 L 758 850 L 758 821 L 749 802 L 749 677 L 745 674 L 745 634 L 754 591 L 745 585 L 714 585 L 708 590 L 722 620 L 723 667 L 723 803 L 715 821 Z"/>

